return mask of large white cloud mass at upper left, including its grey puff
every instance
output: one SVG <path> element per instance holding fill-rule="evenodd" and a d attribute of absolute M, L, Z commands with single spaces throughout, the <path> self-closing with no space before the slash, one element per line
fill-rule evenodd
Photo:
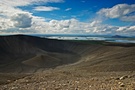
<path fill-rule="evenodd" d="M 19 3 L 18 3 L 19 2 Z M 44 18 L 33 16 L 17 6 L 27 6 L 40 3 L 59 3 L 63 0 L 1 0 L 0 1 L 0 30 L 1 32 L 20 32 L 20 28 L 27 28 L 35 22 L 45 21 Z M 7 29 L 7 30 L 6 30 Z M 14 30 L 13 30 L 14 29 Z M 17 31 L 18 30 L 18 31 Z M 24 30 L 24 29 L 23 29 Z M 22 32 L 22 31 L 21 31 Z"/>

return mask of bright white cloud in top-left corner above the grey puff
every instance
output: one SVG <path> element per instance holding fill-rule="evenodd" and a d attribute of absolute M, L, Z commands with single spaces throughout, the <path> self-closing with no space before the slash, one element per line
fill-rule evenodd
<path fill-rule="evenodd" d="M 12 16 L 16 13 L 30 13 L 28 11 L 23 11 L 18 8 L 18 6 L 27 6 L 33 4 L 41 3 L 61 3 L 64 0 L 0 0 L 0 15 Z"/>

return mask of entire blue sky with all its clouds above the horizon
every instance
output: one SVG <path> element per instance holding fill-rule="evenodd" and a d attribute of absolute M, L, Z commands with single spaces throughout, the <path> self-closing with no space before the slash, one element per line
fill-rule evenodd
<path fill-rule="evenodd" d="M 135 36 L 135 1 L 0 0 L 0 34 Z"/>

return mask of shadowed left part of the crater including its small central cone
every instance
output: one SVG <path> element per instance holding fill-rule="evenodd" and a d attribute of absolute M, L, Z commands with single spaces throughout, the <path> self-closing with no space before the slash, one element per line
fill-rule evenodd
<path fill-rule="evenodd" d="M 55 68 L 74 63 L 81 58 L 72 50 L 76 48 L 74 46 L 76 43 L 25 35 L 2 36 L 0 37 L 0 71 L 35 72 L 39 68 Z"/>

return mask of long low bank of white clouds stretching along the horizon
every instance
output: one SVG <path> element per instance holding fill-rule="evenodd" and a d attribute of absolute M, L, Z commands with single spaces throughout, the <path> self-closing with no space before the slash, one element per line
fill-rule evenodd
<path fill-rule="evenodd" d="M 135 26 L 120 27 L 102 24 L 101 21 L 80 22 L 76 19 L 51 20 L 32 18 L 31 27 L 8 28 L 1 33 L 76 33 L 76 34 L 135 34 Z"/>

